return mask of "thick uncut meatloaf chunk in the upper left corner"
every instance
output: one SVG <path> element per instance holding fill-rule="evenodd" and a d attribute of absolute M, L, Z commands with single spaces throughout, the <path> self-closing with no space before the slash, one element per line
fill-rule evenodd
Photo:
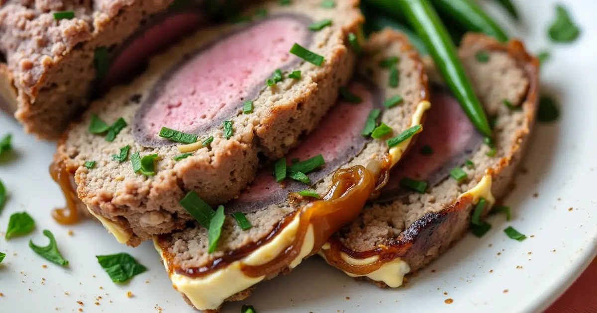
<path fill-rule="evenodd" d="M 92 89 L 118 82 L 214 17 L 204 2 L 0 2 L 0 109 L 14 113 L 26 132 L 59 138 Z"/>

